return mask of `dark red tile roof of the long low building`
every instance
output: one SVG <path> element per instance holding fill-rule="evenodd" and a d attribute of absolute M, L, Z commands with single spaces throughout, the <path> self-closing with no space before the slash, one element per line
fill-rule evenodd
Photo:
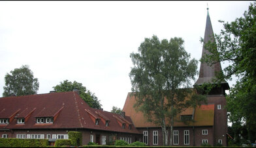
<path fill-rule="evenodd" d="M 113 117 L 120 115 L 90 108 L 76 92 L 1 97 L 0 105 L 0 118 L 25 117 L 30 113 L 25 124 L 17 124 L 14 118 L 8 125 L 0 125 L 0 129 L 95 129 L 140 134 L 135 128 L 122 129 Z M 101 120 L 95 125 L 86 110 L 109 119 L 108 127 Z M 37 123 L 37 117 L 54 117 L 54 123 Z M 132 123 L 130 117 L 125 116 L 125 119 Z"/>

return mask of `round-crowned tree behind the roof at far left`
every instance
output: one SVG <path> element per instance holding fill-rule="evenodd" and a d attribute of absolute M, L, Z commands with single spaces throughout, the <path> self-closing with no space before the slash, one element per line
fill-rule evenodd
<path fill-rule="evenodd" d="M 3 87 L 3 97 L 12 95 L 33 95 L 39 90 L 39 82 L 34 78 L 29 66 L 15 68 L 10 74 L 5 75 L 5 86 Z"/>

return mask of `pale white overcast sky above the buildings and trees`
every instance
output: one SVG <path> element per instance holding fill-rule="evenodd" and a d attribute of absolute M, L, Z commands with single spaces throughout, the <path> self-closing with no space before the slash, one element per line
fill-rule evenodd
<path fill-rule="evenodd" d="M 0 97 L 5 75 L 28 65 L 39 79 L 39 94 L 75 80 L 95 93 L 104 110 L 122 109 L 131 92 L 130 54 L 144 38 L 181 37 L 187 53 L 199 60 L 207 5 L 219 34 L 218 20 L 242 17 L 252 2 L 0 1 Z M 227 82 L 232 87 L 235 80 Z"/>

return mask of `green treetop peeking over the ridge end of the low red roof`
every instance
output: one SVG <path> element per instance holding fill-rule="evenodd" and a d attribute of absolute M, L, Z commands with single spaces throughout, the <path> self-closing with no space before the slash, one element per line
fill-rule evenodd
<path fill-rule="evenodd" d="M 69 80 L 64 80 L 63 82 L 60 82 L 61 84 L 54 86 L 54 90 L 56 92 L 69 92 L 74 89 L 78 89 L 80 93 L 80 97 L 91 107 L 100 109 L 101 104 L 98 98 L 95 96 L 94 93 L 90 92 L 89 90 L 86 90 L 85 86 L 82 86 L 82 83 L 76 82 L 69 82 Z"/>

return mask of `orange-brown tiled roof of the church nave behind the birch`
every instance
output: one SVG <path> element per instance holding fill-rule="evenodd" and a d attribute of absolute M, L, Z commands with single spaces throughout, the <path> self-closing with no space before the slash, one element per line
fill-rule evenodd
<path fill-rule="evenodd" d="M 136 100 L 135 96 L 131 93 L 128 93 L 125 105 L 123 106 L 123 112 L 127 116 L 130 116 L 133 120 L 133 124 L 135 127 L 160 127 L 155 123 L 148 122 L 146 117 L 144 117 L 142 112 L 136 112 L 133 106 L 135 105 Z M 193 115 L 194 122 L 184 123 L 180 121 L 181 115 Z M 214 125 L 214 105 L 201 105 L 195 109 L 193 112 L 193 108 L 187 108 L 181 114 L 178 114 L 176 117 L 176 121 L 174 122 L 174 127 L 186 127 L 186 126 L 212 126 Z"/>

